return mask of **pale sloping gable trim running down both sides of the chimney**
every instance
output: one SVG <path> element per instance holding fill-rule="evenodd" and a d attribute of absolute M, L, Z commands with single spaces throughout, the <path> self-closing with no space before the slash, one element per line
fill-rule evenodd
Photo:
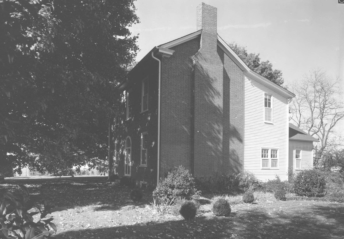
<path fill-rule="evenodd" d="M 193 32 L 191 34 L 182 36 L 178 39 L 175 39 L 173 41 L 164 43 L 162 45 L 159 45 L 159 47 L 161 48 L 170 48 L 176 45 L 179 45 L 181 43 L 190 41 L 192 39 L 195 39 L 197 36 L 202 34 L 202 30 Z M 254 72 L 253 70 L 251 70 L 246 64 L 245 62 L 232 50 L 232 48 L 230 48 L 228 46 L 228 44 L 219 36 L 217 35 L 217 45 L 219 47 L 221 47 L 221 49 L 232 59 L 232 61 L 234 61 L 235 64 L 238 65 L 238 67 L 244 72 L 246 73 L 249 77 L 257 80 L 258 82 L 260 82 L 261 84 L 271 88 L 272 90 L 277 91 L 278 93 L 282 94 L 283 96 L 287 97 L 287 98 L 293 98 L 295 97 L 295 95 L 290 92 L 287 89 L 284 89 L 283 87 L 271 82 L 270 80 L 268 80 L 267 78 L 259 75 L 258 73 Z"/>

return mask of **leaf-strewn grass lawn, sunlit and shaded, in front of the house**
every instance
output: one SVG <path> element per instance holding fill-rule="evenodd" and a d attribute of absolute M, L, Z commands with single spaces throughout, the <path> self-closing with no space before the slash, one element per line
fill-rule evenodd
<path fill-rule="evenodd" d="M 344 204 L 315 201 L 279 202 L 257 194 L 253 204 L 232 206 L 230 217 L 216 217 L 213 196 L 205 196 L 195 220 L 152 210 L 151 191 L 142 202 L 129 199 L 130 189 L 106 184 L 106 177 L 7 179 L 0 187 L 28 187 L 33 200 L 47 199 L 68 210 L 54 212 L 53 238 L 344 238 Z M 208 202 L 207 202 L 208 201 Z"/>

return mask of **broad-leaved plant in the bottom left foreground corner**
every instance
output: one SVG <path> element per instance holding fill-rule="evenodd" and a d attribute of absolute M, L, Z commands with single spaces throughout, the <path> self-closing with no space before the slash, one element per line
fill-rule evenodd
<path fill-rule="evenodd" d="M 44 209 L 33 204 L 29 200 L 29 191 L 19 185 L 23 191 L 21 195 L 15 195 L 13 192 L 0 189 L 0 237 L 18 238 L 18 239 L 39 239 L 50 237 L 57 231 L 53 218 L 46 216 L 53 211 L 59 210 L 49 205 L 46 200 L 43 201 Z M 31 210 L 33 207 L 38 211 Z M 30 210 L 30 213 L 28 212 Z M 35 222 L 33 215 L 40 214 L 40 219 Z"/>

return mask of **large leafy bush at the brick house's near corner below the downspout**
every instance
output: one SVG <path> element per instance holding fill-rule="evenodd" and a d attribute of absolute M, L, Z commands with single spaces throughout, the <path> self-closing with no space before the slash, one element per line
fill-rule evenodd
<path fill-rule="evenodd" d="M 194 178 L 183 166 L 169 170 L 153 191 L 159 202 L 171 202 L 173 198 L 197 199 L 200 191 L 196 189 Z"/>

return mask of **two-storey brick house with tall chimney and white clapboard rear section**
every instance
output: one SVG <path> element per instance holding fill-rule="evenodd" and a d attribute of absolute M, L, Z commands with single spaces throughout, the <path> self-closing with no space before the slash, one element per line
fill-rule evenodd
<path fill-rule="evenodd" d="M 288 173 L 288 104 L 295 95 L 248 68 L 217 34 L 217 9 L 197 31 L 153 47 L 118 86 L 109 171 L 156 184 L 173 166 L 194 176 Z"/>

